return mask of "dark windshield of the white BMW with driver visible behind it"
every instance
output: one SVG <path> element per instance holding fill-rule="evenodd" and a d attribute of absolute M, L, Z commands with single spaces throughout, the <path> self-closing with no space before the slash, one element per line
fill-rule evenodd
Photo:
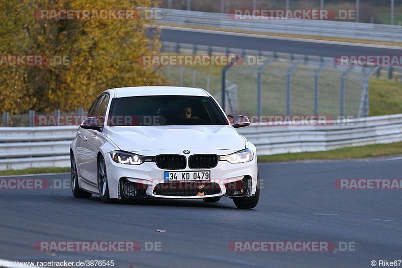
<path fill-rule="evenodd" d="M 211 97 L 140 96 L 112 101 L 108 126 L 228 125 Z"/>

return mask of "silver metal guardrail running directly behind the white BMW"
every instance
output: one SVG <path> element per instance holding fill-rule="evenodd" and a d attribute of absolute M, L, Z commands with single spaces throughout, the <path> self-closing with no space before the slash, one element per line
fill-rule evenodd
<path fill-rule="evenodd" d="M 340 123 L 340 122 L 335 122 Z M 0 170 L 69 166 L 77 126 L 0 128 Z M 402 141 L 402 114 L 353 119 L 348 125 L 252 125 L 238 129 L 259 155 L 326 151 Z"/>

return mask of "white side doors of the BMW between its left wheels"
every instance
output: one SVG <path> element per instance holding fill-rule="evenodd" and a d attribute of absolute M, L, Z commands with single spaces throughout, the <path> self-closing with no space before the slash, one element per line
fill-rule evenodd
<path fill-rule="evenodd" d="M 104 104 L 105 97 L 99 96 L 92 107 L 89 109 L 87 117 L 98 116 L 101 106 Z M 107 98 L 109 100 L 109 98 Z M 78 128 L 78 139 L 76 143 L 77 168 L 79 175 L 92 185 L 97 185 L 97 143 L 99 131 L 92 129 Z"/>

